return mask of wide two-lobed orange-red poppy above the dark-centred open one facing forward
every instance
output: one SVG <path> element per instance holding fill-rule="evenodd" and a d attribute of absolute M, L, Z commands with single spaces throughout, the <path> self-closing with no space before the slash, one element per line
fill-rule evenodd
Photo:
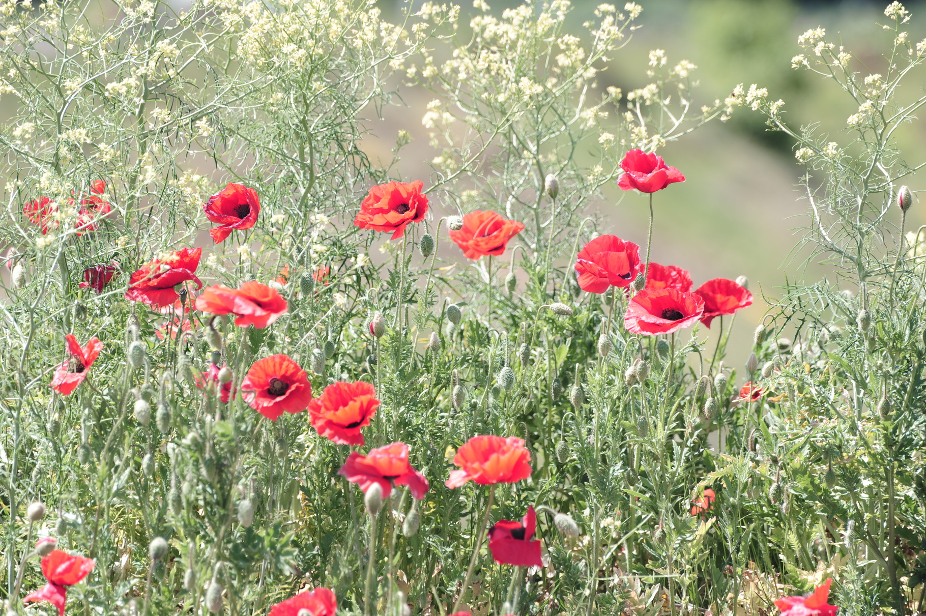
<path fill-rule="evenodd" d="M 202 295 L 196 297 L 196 309 L 212 314 L 233 314 L 235 325 L 263 329 L 286 314 L 288 308 L 279 291 L 251 281 L 237 289 L 220 284 L 206 287 Z"/>

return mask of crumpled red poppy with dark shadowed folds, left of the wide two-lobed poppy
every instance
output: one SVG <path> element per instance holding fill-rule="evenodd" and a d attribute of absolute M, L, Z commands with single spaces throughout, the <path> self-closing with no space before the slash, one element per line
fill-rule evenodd
<path fill-rule="evenodd" d="M 152 259 L 131 274 L 125 298 L 160 308 L 180 299 L 174 289 L 180 283 L 191 281 L 196 283 L 196 289 L 202 289 L 203 283 L 195 273 L 202 255 L 202 248 L 181 248 L 165 258 Z"/>

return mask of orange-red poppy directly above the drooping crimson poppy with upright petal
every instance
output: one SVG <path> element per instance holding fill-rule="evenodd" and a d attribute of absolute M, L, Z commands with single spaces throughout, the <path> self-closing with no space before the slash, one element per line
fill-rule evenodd
<path fill-rule="evenodd" d="M 517 436 L 473 436 L 457 449 L 454 464 L 445 482 L 449 488 L 459 487 L 471 479 L 477 484 L 514 484 L 531 476 L 531 452 Z"/>

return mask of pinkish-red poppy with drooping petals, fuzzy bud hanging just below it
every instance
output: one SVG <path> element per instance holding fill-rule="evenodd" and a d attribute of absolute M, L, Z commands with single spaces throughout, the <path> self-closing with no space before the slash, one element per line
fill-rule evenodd
<path fill-rule="evenodd" d="M 408 463 L 405 443 L 370 449 L 366 456 L 352 451 L 338 473 L 347 481 L 359 484 L 364 494 L 372 484 L 380 484 L 383 498 L 392 494 L 393 485 L 407 485 L 412 496 L 419 500 L 428 491 L 428 480 Z"/>

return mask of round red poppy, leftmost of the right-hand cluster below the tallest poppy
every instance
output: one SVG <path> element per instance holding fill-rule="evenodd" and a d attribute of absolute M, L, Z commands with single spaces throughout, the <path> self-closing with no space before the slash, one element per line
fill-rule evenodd
<path fill-rule="evenodd" d="M 582 246 L 575 269 L 582 291 L 605 293 L 612 286 L 626 288 L 641 271 L 640 246 L 617 235 L 599 235 Z"/>

